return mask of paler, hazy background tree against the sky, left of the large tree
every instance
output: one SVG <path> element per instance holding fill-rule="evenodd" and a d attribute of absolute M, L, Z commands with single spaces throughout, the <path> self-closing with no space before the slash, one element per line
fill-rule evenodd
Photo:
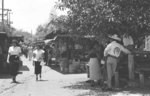
<path fill-rule="evenodd" d="M 50 33 L 64 33 L 68 32 L 68 26 L 66 25 L 67 16 L 56 16 L 50 14 L 50 19 L 48 23 L 44 25 L 39 25 L 36 30 L 36 37 L 39 39 L 44 39 Z"/>

